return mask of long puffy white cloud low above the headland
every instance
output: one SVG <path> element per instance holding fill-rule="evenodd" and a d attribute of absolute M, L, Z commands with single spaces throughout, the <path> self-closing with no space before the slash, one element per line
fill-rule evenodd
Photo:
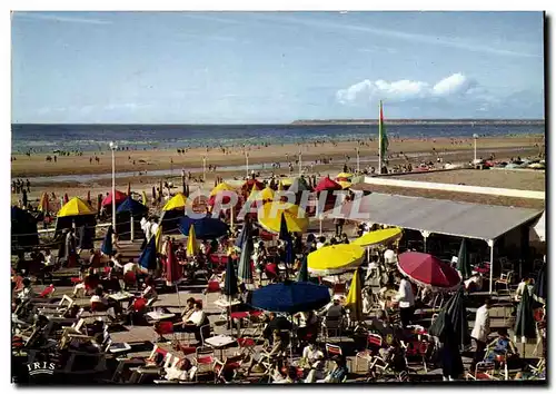
<path fill-rule="evenodd" d="M 416 99 L 451 98 L 473 92 L 477 82 L 464 76 L 454 73 L 443 78 L 435 85 L 426 81 L 413 81 L 403 79 L 398 81 L 385 81 L 378 79 L 371 81 L 365 79 L 336 92 L 336 99 L 344 105 L 358 104 L 371 100 L 408 101 Z"/>

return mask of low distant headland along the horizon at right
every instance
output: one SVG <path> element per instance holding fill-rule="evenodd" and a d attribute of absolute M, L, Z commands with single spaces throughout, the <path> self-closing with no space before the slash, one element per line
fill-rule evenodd
<path fill-rule="evenodd" d="M 387 125 L 535 125 L 542 126 L 544 119 L 387 119 Z M 378 125 L 378 119 L 307 119 L 296 120 L 296 126 L 321 126 L 321 125 Z"/>

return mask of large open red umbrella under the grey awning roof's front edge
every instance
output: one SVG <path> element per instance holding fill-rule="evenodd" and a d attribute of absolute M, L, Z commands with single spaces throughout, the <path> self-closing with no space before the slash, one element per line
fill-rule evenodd
<path fill-rule="evenodd" d="M 435 290 L 453 290 L 461 282 L 456 269 L 426 253 L 406 252 L 400 254 L 398 269 L 409 280 Z"/>

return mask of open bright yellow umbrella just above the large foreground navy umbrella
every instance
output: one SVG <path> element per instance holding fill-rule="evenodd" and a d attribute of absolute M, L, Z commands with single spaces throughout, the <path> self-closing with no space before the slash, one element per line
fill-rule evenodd
<path fill-rule="evenodd" d="M 364 254 L 363 247 L 353 244 L 322 246 L 307 256 L 308 269 L 317 276 L 341 274 L 357 268 Z"/>

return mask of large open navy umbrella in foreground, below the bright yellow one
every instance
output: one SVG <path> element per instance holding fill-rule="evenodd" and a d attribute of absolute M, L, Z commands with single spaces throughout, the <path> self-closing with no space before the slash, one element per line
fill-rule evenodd
<path fill-rule="evenodd" d="M 258 309 L 296 314 L 320 309 L 330 302 L 328 287 L 309 282 L 281 282 L 252 292 L 251 306 Z"/>

